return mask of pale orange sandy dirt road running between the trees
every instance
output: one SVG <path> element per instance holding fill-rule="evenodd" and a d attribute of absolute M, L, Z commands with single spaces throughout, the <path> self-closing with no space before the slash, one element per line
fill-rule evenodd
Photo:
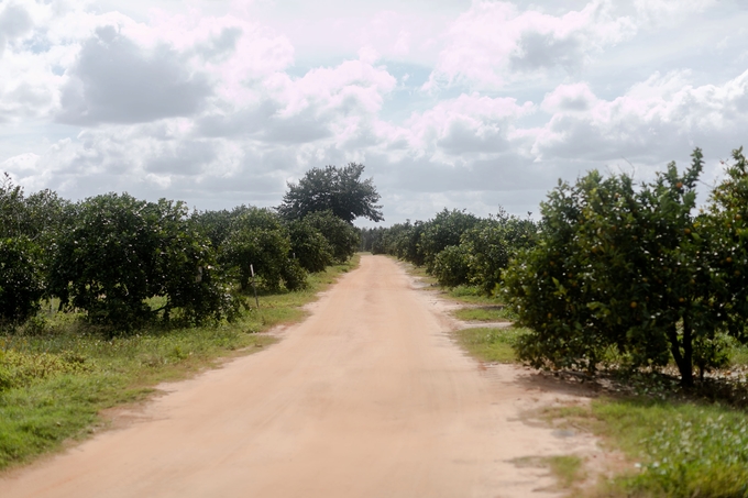
<path fill-rule="evenodd" d="M 551 395 L 464 356 L 429 300 L 365 256 L 279 344 L 168 386 L 136 422 L 0 478 L 0 497 L 558 496 L 509 461 L 594 442 L 517 420 Z"/>

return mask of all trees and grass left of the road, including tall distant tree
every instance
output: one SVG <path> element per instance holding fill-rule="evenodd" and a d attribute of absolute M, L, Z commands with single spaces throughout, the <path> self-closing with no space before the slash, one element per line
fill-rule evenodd
<path fill-rule="evenodd" d="M 358 265 L 350 221 L 381 219 L 362 165 L 315 168 L 299 185 L 320 171 L 315 186 L 334 192 L 324 202 L 292 184 L 277 209 L 202 212 L 127 193 L 26 196 L 6 175 L 0 469 L 106 427 L 101 410 L 142 400 L 160 381 L 261 351 L 274 342 L 261 332 L 300 320 Z M 290 209 L 305 196 L 318 202 Z"/>

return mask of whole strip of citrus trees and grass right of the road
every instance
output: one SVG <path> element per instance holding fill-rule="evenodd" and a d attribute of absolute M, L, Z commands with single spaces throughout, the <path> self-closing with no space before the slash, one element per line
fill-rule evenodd
<path fill-rule="evenodd" d="M 507 313 L 522 331 L 459 332 L 477 357 L 604 386 L 588 410 L 556 413 L 631 458 L 592 496 L 748 497 L 748 162 L 734 151 L 700 207 L 692 157 L 640 185 L 560 181 L 539 222 L 444 210 L 364 233 L 469 302 L 458 317 Z"/>

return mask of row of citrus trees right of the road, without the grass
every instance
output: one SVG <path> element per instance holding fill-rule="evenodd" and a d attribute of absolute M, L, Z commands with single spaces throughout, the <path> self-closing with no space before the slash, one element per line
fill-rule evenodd
<path fill-rule="evenodd" d="M 725 363 L 732 342 L 748 342 L 748 164 L 734 151 L 700 208 L 702 152 L 692 157 L 639 185 L 597 171 L 560 181 L 538 224 L 443 211 L 365 240 L 443 285 L 498 294 L 531 329 L 518 350 L 536 366 L 673 362 L 690 386 L 695 369 Z"/>

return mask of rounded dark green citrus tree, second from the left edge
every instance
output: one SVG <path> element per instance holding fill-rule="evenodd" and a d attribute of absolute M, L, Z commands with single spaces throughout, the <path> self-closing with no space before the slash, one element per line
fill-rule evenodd
<path fill-rule="evenodd" d="M 58 239 L 50 286 L 61 306 L 86 310 L 95 323 L 129 330 L 158 311 L 168 320 L 175 308 L 200 322 L 235 312 L 213 265 L 184 203 L 108 193 L 76 206 Z M 160 310 L 145 302 L 155 296 L 166 298 Z"/>

